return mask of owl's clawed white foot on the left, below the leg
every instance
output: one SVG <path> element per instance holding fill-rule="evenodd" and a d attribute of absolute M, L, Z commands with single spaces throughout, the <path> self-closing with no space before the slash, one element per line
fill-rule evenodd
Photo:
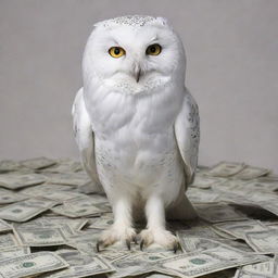
<path fill-rule="evenodd" d="M 130 250 L 131 242 L 137 243 L 136 231 L 131 227 L 116 227 L 112 226 L 110 229 L 104 230 L 97 242 L 97 251 L 100 252 L 100 247 L 106 248 L 117 241 L 125 242 L 128 250 Z"/>

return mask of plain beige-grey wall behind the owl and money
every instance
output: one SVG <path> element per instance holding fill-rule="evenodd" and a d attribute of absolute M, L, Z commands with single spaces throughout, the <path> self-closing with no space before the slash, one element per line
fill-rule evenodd
<path fill-rule="evenodd" d="M 201 114 L 200 164 L 278 172 L 278 1 L 0 0 L 0 159 L 78 157 L 71 106 L 92 24 L 162 15 L 180 34 Z"/>

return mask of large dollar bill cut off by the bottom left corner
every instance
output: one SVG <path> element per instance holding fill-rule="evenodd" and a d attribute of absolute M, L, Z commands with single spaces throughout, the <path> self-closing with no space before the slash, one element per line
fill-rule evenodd
<path fill-rule="evenodd" d="M 1 278 L 23 278 L 68 267 L 68 264 L 52 252 L 38 252 L 0 262 Z"/>

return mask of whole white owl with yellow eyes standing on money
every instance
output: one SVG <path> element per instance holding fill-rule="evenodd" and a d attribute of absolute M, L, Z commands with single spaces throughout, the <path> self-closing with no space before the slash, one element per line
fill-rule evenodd
<path fill-rule="evenodd" d="M 185 87 L 181 40 L 163 17 L 121 16 L 94 25 L 84 53 L 84 87 L 73 105 L 83 164 L 104 189 L 114 224 L 97 248 L 136 240 L 176 250 L 165 218 L 190 219 L 185 192 L 199 148 L 198 105 Z"/>

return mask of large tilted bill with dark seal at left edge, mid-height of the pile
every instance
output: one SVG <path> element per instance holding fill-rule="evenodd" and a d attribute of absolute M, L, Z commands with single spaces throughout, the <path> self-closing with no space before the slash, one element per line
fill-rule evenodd
<path fill-rule="evenodd" d="M 0 218 L 11 222 L 26 222 L 55 204 L 55 201 L 29 199 L 0 208 Z"/>

